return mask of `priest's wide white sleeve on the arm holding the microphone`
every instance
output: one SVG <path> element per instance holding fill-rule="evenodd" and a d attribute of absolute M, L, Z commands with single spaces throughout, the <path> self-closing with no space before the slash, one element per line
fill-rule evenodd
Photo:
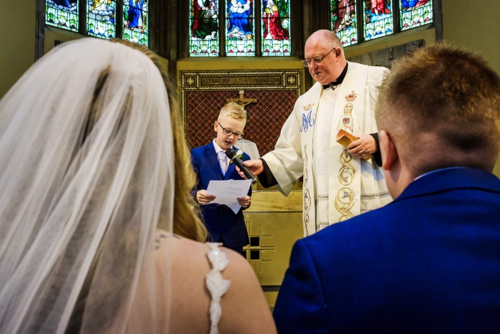
<path fill-rule="evenodd" d="M 296 116 L 297 105 L 295 103 L 293 112 L 281 128 L 274 150 L 262 157 L 278 182 L 279 191 L 285 196 L 288 196 L 297 179 L 302 176 L 304 168 L 300 145 L 300 123 Z"/>

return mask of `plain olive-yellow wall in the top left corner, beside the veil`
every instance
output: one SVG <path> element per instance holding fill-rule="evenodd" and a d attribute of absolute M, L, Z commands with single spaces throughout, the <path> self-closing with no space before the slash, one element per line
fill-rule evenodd
<path fill-rule="evenodd" d="M 3 2 L 0 20 L 0 98 L 34 63 L 36 3 Z"/>

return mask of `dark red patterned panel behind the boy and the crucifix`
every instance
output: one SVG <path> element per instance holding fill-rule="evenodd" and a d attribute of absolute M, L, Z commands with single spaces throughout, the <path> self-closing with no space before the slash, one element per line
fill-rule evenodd
<path fill-rule="evenodd" d="M 208 144 L 215 138 L 213 123 L 227 98 L 238 98 L 237 90 L 188 91 L 185 93 L 185 122 L 189 146 Z M 244 98 L 256 98 L 246 105 L 245 139 L 257 144 L 260 155 L 272 151 L 281 127 L 293 110 L 296 90 L 245 90 Z"/>

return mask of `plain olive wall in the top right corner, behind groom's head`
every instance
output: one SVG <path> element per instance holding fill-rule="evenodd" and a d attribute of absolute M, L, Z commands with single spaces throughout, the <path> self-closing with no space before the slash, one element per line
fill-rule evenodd
<path fill-rule="evenodd" d="M 442 0 L 443 39 L 481 54 L 500 74 L 500 2 Z M 500 177 L 500 156 L 493 173 Z"/>

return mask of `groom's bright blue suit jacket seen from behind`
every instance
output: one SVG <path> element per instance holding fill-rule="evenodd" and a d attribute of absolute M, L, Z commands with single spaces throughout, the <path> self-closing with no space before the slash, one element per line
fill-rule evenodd
<path fill-rule="evenodd" d="M 282 333 L 500 333 L 500 180 L 435 171 L 298 240 L 274 319 Z"/>

